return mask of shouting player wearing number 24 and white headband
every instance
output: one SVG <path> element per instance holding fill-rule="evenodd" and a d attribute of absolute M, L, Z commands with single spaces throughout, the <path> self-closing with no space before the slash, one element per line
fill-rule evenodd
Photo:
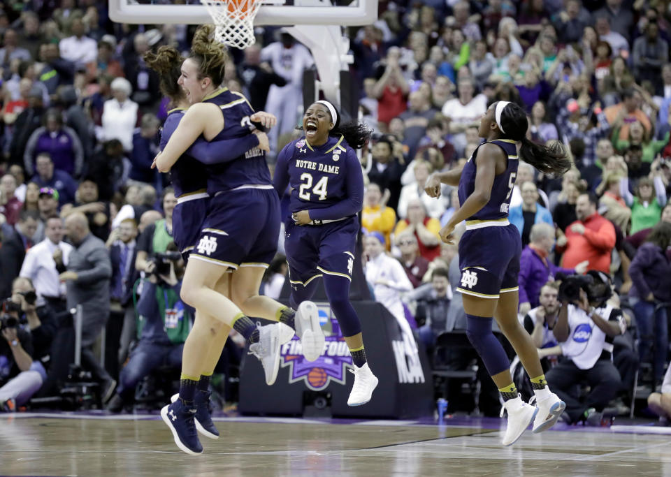
<path fill-rule="evenodd" d="M 354 149 L 370 136 L 366 126 L 340 124 L 329 101 L 317 101 L 303 115 L 303 138 L 289 142 L 277 156 L 275 190 L 291 185 L 291 217 L 284 221 L 291 306 L 310 300 L 317 277 L 324 278 L 329 304 L 345 335 L 354 362 L 349 406 L 370 401 L 377 378 L 366 362 L 361 321 L 349 302 L 354 247 L 363 205 L 363 173 Z M 323 335 L 322 335 L 322 339 Z"/>

